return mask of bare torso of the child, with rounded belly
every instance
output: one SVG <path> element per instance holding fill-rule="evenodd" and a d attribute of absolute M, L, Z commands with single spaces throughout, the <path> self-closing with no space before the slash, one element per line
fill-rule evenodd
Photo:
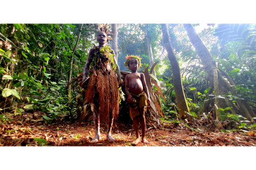
<path fill-rule="evenodd" d="M 132 94 L 140 94 L 143 92 L 141 73 L 132 73 L 127 75 L 129 82 L 129 91 Z"/>

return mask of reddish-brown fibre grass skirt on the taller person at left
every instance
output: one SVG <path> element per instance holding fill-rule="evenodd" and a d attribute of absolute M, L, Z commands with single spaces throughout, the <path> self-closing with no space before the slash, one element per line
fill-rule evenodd
<path fill-rule="evenodd" d="M 119 113 L 119 89 L 116 73 L 101 70 L 95 71 L 90 76 L 86 90 L 88 102 L 93 103 L 93 111 L 100 114 L 101 123 L 108 123 L 109 118 L 117 118 Z"/>

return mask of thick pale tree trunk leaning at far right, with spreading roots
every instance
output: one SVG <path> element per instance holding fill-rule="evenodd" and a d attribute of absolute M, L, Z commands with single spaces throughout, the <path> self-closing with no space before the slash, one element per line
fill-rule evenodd
<path fill-rule="evenodd" d="M 215 91 L 215 108 L 220 108 L 221 105 L 230 105 L 230 103 L 226 102 L 227 100 L 221 99 L 220 95 L 228 94 L 228 92 L 236 95 L 233 87 L 230 86 L 231 84 L 234 85 L 233 81 L 226 73 L 224 73 L 223 70 L 220 71 L 218 69 L 215 60 L 213 60 L 213 57 L 211 56 L 207 47 L 203 44 L 198 34 L 195 32 L 193 26 L 191 24 L 183 25 L 187 31 L 187 35 L 189 36 L 190 41 L 195 47 L 195 51 L 197 51 L 197 54 L 200 57 L 205 71 L 207 72 L 208 78 L 210 80 L 210 87 L 213 87 Z M 229 79 L 230 84 L 223 78 L 223 76 L 226 76 L 226 78 Z M 249 121 L 255 123 L 254 119 L 252 119 L 252 115 L 255 115 L 255 113 L 252 113 L 252 110 L 249 111 L 247 107 L 245 107 L 245 103 L 242 100 L 237 99 L 236 101 L 239 105 L 239 108 L 237 107 L 235 109 L 236 113 L 245 116 L 247 119 L 249 119 Z M 233 106 L 233 108 L 234 107 L 236 106 Z M 231 112 L 234 113 L 233 110 L 231 110 Z M 216 110 L 217 119 L 218 116 L 220 116 L 220 110 Z"/>

